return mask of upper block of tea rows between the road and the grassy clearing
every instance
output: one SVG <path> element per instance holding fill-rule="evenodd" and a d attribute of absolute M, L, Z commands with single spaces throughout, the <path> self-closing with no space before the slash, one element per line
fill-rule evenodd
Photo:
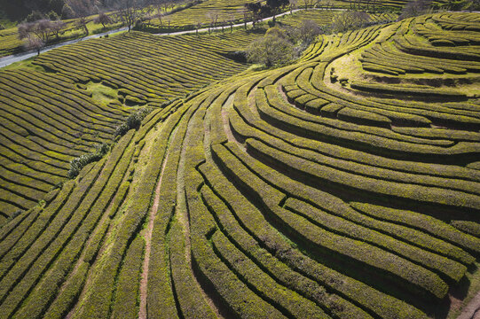
<path fill-rule="evenodd" d="M 119 89 L 126 103 L 157 105 L 244 70 L 229 53 L 261 35 L 262 30 L 174 37 L 133 32 L 49 51 L 34 64 L 75 82 Z"/>

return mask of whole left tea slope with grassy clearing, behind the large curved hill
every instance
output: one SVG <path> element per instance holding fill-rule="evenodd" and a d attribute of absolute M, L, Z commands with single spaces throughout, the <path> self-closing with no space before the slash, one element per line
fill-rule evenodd
<path fill-rule="evenodd" d="M 224 55 L 257 36 L 119 35 L 35 59 L 54 74 L 42 68 L 0 71 L 0 225 L 65 181 L 70 160 L 110 143 L 115 128 L 139 106 L 161 107 L 244 70 Z M 119 51 L 127 45 L 129 51 Z"/>

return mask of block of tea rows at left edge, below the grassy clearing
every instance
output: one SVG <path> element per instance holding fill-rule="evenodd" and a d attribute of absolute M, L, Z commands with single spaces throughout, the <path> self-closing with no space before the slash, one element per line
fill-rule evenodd
<path fill-rule="evenodd" d="M 73 82 L 40 72 L 5 71 L 0 76 L 1 199 L 4 214 L 28 209 L 67 174 L 68 162 L 111 138 L 127 114 L 95 102 Z M 48 123 L 48 125 L 45 125 Z"/>

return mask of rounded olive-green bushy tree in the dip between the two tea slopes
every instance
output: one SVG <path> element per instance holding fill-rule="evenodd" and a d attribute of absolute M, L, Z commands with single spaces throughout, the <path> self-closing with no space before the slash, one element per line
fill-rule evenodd
<path fill-rule="evenodd" d="M 294 46 L 281 33 L 271 32 L 250 43 L 246 53 L 249 62 L 271 67 L 291 60 L 294 57 Z"/>

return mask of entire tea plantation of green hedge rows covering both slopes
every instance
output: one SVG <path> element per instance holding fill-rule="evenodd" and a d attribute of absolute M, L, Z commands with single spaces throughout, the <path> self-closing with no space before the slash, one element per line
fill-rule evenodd
<path fill-rule="evenodd" d="M 132 32 L 0 71 L 0 318 L 445 318 L 478 276 L 479 35 L 429 14 L 247 70 L 261 33 Z"/>

